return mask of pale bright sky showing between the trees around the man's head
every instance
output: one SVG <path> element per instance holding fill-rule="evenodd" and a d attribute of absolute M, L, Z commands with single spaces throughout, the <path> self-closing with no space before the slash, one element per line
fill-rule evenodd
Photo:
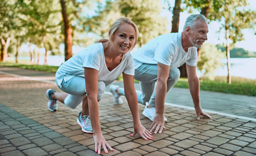
<path fill-rule="evenodd" d="M 173 7 L 174 6 L 174 1 L 170 1 L 170 5 Z M 248 0 L 249 7 L 253 10 L 256 10 L 256 0 Z M 195 12 L 195 14 L 199 14 L 199 12 Z M 185 24 L 185 19 L 190 14 L 187 13 L 187 11 L 180 12 L 180 24 L 179 24 L 179 32 L 183 31 L 183 27 Z M 171 23 L 172 20 L 172 13 L 169 12 L 168 10 L 163 10 L 161 12 L 161 16 L 165 16 L 168 21 Z M 171 17 L 171 18 L 170 18 Z M 170 26 L 171 27 L 171 26 Z M 169 28 L 170 28 L 169 27 Z M 225 32 L 223 31 L 222 33 L 219 33 L 219 28 L 221 27 L 220 23 L 217 21 L 211 21 L 208 25 L 208 40 L 206 42 L 210 44 L 223 44 L 225 43 Z M 236 47 L 242 47 L 248 51 L 256 51 L 256 35 L 255 32 L 252 29 L 245 29 L 242 31 L 244 34 L 245 40 L 241 42 L 237 42 L 235 44 Z"/>

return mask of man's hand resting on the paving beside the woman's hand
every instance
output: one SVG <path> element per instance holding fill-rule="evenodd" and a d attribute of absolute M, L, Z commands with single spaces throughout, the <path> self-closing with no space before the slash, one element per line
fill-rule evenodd
<path fill-rule="evenodd" d="M 153 123 L 150 126 L 150 132 L 155 129 L 154 133 L 162 133 L 163 128 L 165 128 L 165 119 L 163 114 L 155 114 L 155 118 L 153 119 Z"/>

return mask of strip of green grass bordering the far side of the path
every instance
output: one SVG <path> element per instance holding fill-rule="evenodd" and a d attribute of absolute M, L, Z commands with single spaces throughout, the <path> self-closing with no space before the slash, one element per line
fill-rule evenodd
<path fill-rule="evenodd" d="M 0 66 L 16 67 L 29 70 L 38 70 L 55 73 L 58 66 L 42 66 L 36 64 L 16 64 L 14 62 L 0 62 Z M 118 77 L 122 81 L 123 77 Z M 227 77 L 216 77 L 214 81 L 208 79 L 200 79 L 200 90 L 208 90 L 213 92 L 224 92 L 231 94 L 240 94 L 247 96 L 256 96 L 256 80 L 246 79 L 242 77 L 232 77 L 232 83 L 228 84 Z M 135 80 L 135 83 L 138 81 Z M 180 78 L 174 87 L 189 88 L 187 79 Z"/>

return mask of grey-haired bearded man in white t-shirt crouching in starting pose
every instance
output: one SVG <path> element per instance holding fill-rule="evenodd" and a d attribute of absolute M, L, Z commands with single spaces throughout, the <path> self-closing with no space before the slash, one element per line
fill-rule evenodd
<path fill-rule="evenodd" d="M 135 79 L 140 81 L 142 89 L 142 92 L 137 92 L 138 102 L 146 104 L 142 114 L 153 121 L 150 131 L 163 131 L 167 121 L 164 116 L 165 96 L 178 81 L 178 67 L 184 63 L 197 120 L 200 116 L 211 118 L 200 107 L 200 83 L 196 74 L 197 48 L 207 40 L 207 33 L 207 19 L 202 14 L 194 14 L 186 19 L 183 32 L 157 36 L 134 53 Z M 114 100 L 120 103 L 123 88 L 112 85 L 110 91 Z"/>

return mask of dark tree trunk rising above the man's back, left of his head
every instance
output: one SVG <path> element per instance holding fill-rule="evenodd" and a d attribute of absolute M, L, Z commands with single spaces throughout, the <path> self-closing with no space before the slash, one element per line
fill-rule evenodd
<path fill-rule="evenodd" d="M 181 0 L 175 0 L 175 6 L 173 8 L 173 16 L 172 16 L 172 32 L 178 32 L 179 30 L 181 4 L 182 4 Z"/>

